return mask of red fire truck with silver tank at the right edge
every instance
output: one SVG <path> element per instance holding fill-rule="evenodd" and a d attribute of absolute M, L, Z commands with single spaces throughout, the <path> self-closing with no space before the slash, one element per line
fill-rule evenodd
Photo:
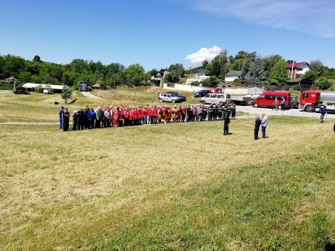
<path fill-rule="evenodd" d="M 299 99 L 299 109 L 305 112 L 314 112 L 324 105 L 327 111 L 335 112 L 335 92 L 334 91 L 303 91 Z"/>

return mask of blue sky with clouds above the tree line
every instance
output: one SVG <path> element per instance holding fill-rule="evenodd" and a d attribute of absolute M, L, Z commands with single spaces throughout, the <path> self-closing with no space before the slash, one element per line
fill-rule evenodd
<path fill-rule="evenodd" d="M 332 0 L 1 0 L 0 54 L 185 68 L 258 52 L 335 68 Z"/>

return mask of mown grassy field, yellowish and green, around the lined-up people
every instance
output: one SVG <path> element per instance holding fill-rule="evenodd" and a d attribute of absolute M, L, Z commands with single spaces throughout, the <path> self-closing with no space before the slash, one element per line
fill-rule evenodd
<path fill-rule="evenodd" d="M 68 107 L 157 104 L 138 92 Z M 221 121 L 63 132 L 55 101 L 0 93 L 1 250 L 334 250 L 333 124 L 271 116 L 258 141 L 248 119 L 228 136 Z"/>

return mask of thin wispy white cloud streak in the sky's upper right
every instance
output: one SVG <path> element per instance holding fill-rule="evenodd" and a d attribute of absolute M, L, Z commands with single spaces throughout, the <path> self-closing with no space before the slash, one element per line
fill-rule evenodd
<path fill-rule="evenodd" d="M 335 38 L 333 0 L 195 0 L 197 10 L 245 22 Z"/>

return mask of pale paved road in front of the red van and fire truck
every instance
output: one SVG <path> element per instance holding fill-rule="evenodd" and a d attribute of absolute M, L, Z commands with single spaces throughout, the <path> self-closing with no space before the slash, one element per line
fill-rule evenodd
<path fill-rule="evenodd" d="M 301 109 L 287 109 L 285 111 L 274 111 L 269 108 L 255 108 L 251 105 L 237 105 L 237 112 L 247 112 L 251 115 L 261 115 L 263 112 L 269 116 L 299 116 L 305 118 L 320 118 L 320 113 L 318 112 L 304 112 Z M 335 114 L 326 114 L 325 119 L 335 119 Z"/>

